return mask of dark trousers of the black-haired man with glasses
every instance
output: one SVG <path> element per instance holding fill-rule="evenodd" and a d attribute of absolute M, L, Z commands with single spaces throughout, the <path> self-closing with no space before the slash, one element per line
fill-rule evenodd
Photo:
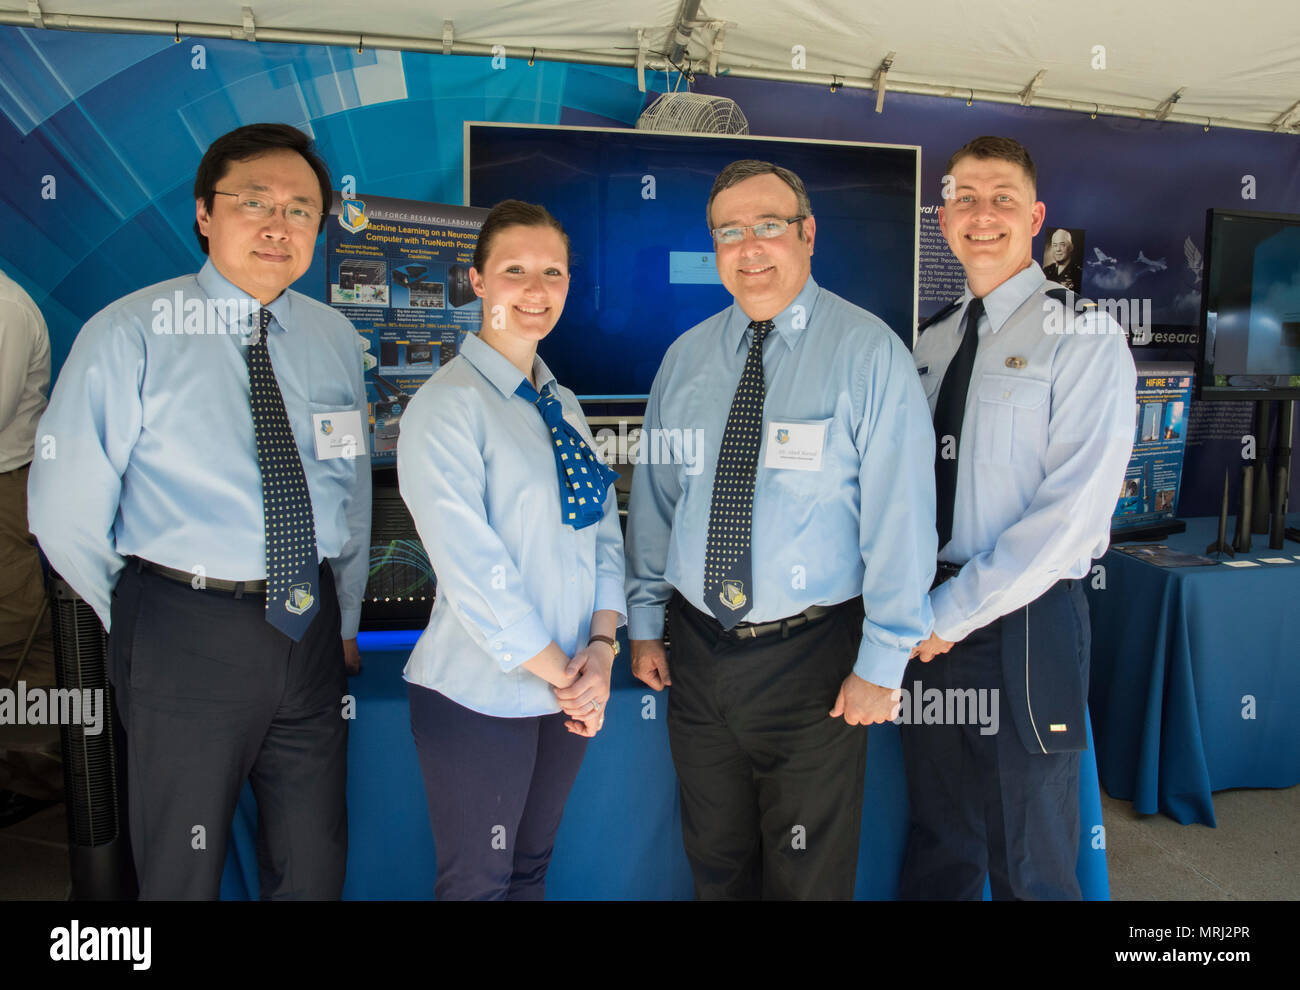
<path fill-rule="evenodd" d="M 328 564 L 292 642 L 266 596 L 129 563 L 113 591 L 109 679 L 126 729 L 140 899 L 216 899 L 244 781 L 263 899 L 338 899 L 347 863 L 347 673 Z"/>

